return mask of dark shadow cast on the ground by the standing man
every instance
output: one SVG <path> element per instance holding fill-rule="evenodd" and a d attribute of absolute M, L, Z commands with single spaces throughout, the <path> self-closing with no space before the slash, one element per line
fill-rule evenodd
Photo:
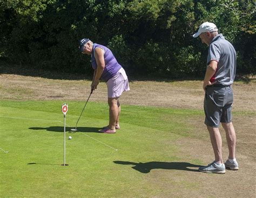
<path fill-rule="evenodd" d="M 149 173 L 152 169 L 174 169 L 181 171 L 198 172 L 200 165 L 190 164 L 188 162 L 163 162 L 163 161 L 150 161 L 150 162 L 131 162 L 131 161 L 113 161 L 116 164 L 134 165 L 132 168 L 140 173 Z M 189 168 L 195 167 L 197 169 Z"/>

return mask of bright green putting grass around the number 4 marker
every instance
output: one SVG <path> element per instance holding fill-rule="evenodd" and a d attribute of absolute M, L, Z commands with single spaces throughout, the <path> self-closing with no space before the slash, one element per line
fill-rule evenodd
<path fill-rule="evenodd" d="M 70 130 L 84 103 L 67 103 Z M 122 129 L 106 135 L 97 130 L 108 122 L 107 104 L 90 102 L 78 124 L 81 132 L 66 133 L 73 138 L 66 140 L 69 166 L 63 167 L 61 105 L 0 101 L 0 147 L 9 151 L 0 151 L 1 197 L 150 197 L 200 186 L 184 175 L 187 163 L 201 161 L 179 157 L 174 142 L 192 136 L 186 118 L 203 112 L 124 105 Z M 175 171 L 176 179 L 167 177 L 167 171 Z"/>

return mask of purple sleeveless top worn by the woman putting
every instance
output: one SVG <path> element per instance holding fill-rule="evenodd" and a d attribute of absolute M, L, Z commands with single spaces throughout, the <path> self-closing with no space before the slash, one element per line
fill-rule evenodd
<path fill-rule="evenodd" d="M 109 48 L 103 45 L 93 44 L 92 54 L 91 54 L 92 55 L 91 63 L 92 63 L 93 69 L 97 69 L 97 62 L 96 62 L 94 53 L 95 53 L 95 49 L 98 47 L 103 48 L 105 52 L 104 53 L 105 67 L 104 67 L 102 76 L 100 78 L 105 82 L 107 82 L 109 79 L 111 79 L 111 77 L 117 74 L 117 72 L 119 71 L 119 69 L 122 68 L 122 66 L 117 62 L 117 59 L 114 58 L 114 55 Z"/>

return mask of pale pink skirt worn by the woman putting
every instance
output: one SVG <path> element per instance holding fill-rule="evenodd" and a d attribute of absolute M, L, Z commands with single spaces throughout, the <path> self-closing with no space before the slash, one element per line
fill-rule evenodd
<path fill-rule="evenodd" d="M 107 82 L 107 97 L 114 98 L 122 95 L 123 91 L 129 91 L 129 81 L 125 70 L 121 68 L 116 75 L 114 75 Z"/>

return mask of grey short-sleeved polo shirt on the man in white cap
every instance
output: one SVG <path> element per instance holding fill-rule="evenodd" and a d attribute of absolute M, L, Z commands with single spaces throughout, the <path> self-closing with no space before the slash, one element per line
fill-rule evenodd
<path fill-rule="evenodd" d="M 232 44 L 222 34 L 215 36 L 210 44 L 207 65 L 212 60 L 218 62 L 218 67 L 210 81 L 217 81 L 217 84 L 225 86 L 231 85 L 234 82 L 237 67 L 237 54 Z"/>

